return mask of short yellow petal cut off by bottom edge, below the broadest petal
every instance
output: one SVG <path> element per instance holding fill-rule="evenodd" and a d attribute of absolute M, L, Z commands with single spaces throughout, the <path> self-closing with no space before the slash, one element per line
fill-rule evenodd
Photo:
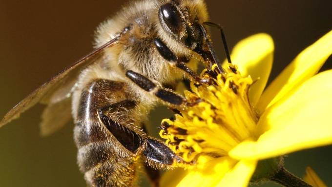
<path fill-rule="evenodd" d="M 248 187 L 249 181 L 255 171 L 257 161 L 241 160 L 228 171 L 217 187 Z"/>

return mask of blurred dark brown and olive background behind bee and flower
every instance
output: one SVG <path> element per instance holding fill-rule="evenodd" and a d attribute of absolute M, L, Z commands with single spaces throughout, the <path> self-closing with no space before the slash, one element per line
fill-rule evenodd
<path fill-rule="evenodd" d="M 125 1 L 0 0 L 0 118 L 26 95 L 92 50 L 94 29 Z M 275 42 L 270 80 L 304 48 L 332 29 L 332 1 L 209 0 L 211 21 L 224 26 L 230 48 L 266 32 Z M 214 35 L 216 34 L 216 35 Z M 213 32 L 217 51 L 222 51 Z M 220 53 L 220 58 L 224 54 Z M 332 59 L 323 69 L 332 68 Z M 39 136 L 42 105 L 0 129 L 0 187 L 85 186 L 76 165 L 73 124 Z M 165 110 L 165 109 L 160 109 Z M 156 128 L 162 118 L 153 112 Z M 286 167 L 303 176 L 311 166 L 332 186 L 332 146 L 288 155 Z M 274 187 L 272 184 L 266 187 Z"/>

